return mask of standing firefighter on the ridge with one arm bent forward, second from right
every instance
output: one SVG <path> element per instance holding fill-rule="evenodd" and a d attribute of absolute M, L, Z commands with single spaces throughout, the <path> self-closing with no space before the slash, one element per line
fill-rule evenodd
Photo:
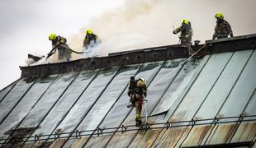
<path fill-rule="evenodd" d="M 194 53 L 193 49 L 191 48 L 192 45 L 192 35 L 193 30 L 191 26 L 191 22 L 187 19 L 184 19 L 182 21 L 182 25 L 179 26 L 177 29 L 173 30 L 173 34 L 176 35 L 180 32 L 179 39 L 181 41 L 181 44 L 183 46 L 186 46 L 188 49 L 189 55 L 192 55 Z"/>

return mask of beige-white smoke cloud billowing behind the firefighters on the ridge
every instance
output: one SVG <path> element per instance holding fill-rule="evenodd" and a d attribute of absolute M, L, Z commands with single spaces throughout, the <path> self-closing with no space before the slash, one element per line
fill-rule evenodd
<path fill-rule="evenodd" d="M 219 3 L 221 2 L 221 6 Z M 133 0 L 126 1 L 122 7 L 111 9 L 101 16 L 91 20 L 89 25 L 83 26 L 77 34 L 68 36 L 69 47 L 76 51 L 83 50 L 85 31 L 91 29 L 102 44 L 89 49 L 90 52 L 72 54 L 72 59 L 94 56 L 107 56 L 108 53 L 131 49 L 144 49 L 167 44 L 178 44 L 178 36 L 173 35 L 173 25 L 178 27 L 183 19 L 192 22 L 194 30 L 193 40 L 211 39 L 216 19 L 216 12 L 224 13 L 225 19 L 230 21 L 235 35 L 244 35 L 243 27 L 238 27 L 234 21 L 241 16 L 226 6 L 239 6 L 239 0 Z M 224 7 L 225 6 L 225 7 Z M 249 6 L 248 6 L 249 7 Z M 237 14 L 235 14 L 237 13 Z M 242 18 L 242 16 L 240 17 Z M 255 18 L 246 30 L 253 30 Z M 244 31 L 246 32 L 246 31 Z M 58 62 L 52 58 L 50 62 Z"/>

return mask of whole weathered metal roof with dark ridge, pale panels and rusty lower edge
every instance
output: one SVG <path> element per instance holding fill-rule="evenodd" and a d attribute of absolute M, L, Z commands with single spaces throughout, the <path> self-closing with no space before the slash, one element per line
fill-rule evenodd
<path fill-rule="evenodd" d="M 206 41 L 207 55 L 185 63 L 187 50 L 163 46 L 21 67 L 21 78 L 0 91 L 0 146 L 253 146 L 255 41 Z M 130 76 L 148 86 L 144 127 L 126 108 Z"/>

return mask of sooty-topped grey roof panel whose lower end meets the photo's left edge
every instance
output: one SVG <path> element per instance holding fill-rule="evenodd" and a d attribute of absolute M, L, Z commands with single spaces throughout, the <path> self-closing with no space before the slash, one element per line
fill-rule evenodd
<path fill-rule="evenodd" d="M 4 132 L 11 129 L 15 129 L 27 113 L 32 109 L 36 102 L 45 93 L 45 90 L 49 88 L 52 82 L 55 80 L 56 75 L 49 76 L 45 79 L 38 79 L 26 95 L 21 99 L 21 102 L 17 104 L 17 107 L 12 110 L 12 113 L 4 120 L 0 126 L 0 136 Z"/>

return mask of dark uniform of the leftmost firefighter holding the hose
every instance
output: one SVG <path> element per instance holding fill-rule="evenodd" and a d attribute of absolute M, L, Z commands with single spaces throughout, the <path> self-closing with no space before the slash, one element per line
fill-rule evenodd
<path fill-rule="evenodd" d="M 67 43 L 67 39 L 65 39 L 64 37 L 62 36 L 57 36 L 56 39 L 53 39 L 51 40 L 52 41 L 52 47 L 55 48 L 55 46 L 58 46 L 57 49 L 58 49 L 58 53 L 59 53 L 59 56 L 58 56 L 58 59 L 64 59 L 66 58 L 67 61 L 69 61 L 69 59 L 71 58 L 71 51 L 69 51 L 68 49 L 62 47 L 62 46 L 59 46 L 59 44 L 62 44 L 66 47 L 69 47 Z"/>

